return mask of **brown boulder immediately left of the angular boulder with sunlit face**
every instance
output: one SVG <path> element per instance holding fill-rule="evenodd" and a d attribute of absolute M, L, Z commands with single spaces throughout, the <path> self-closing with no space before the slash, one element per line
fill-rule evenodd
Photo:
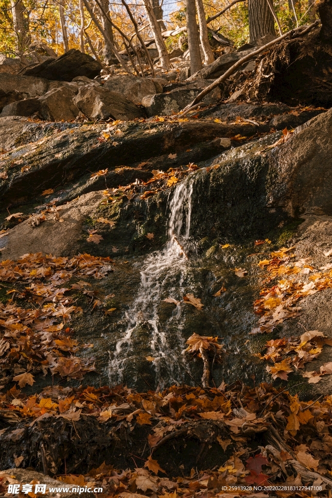
<path fill-rule="evenodd" d="M 74 97 L 74 92 L 66 87 L 54 88 L 39 97 L 42 118 L 47 121 L 74 120 L 80 112 L 73 102 Z"/>

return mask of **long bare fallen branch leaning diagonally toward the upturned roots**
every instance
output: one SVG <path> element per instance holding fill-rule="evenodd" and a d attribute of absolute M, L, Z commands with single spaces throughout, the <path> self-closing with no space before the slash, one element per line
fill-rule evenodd
<path fill-rule="evenodd" d="M 301 26 L 299 28 L 299 29 L 301 29 L 300 32 L 297 32 L 298 29 L 292 29 L 291 31 L 288 31 L 287 33 L 283 34 L 282 36 L 279 36 L 279 38 L 276 38 L 275 40 L 272 40 L 269 43 L 266 43 L 266 45 L 263 45 L 262 47 L 258 48 L 254 52 L 251 52 L 250 54 L 245 55 L 244 57 L 242 57 L 241 59 L 239 59 L 237 62 L 235 62 L 235 64 L 233 64 L 229 69 L 227 69 L 227 71 L 225 73 L 223 73 L 219 78 L 217 78 L 217 80 L 215 80 L 213 83 L 211 83 L 211 85 L 209 85 L 204 90 L 202 90 L 202 92 L 200 94 L 198 94 L 198 96 L 195 97 L 195 99 L 190 104 L 188 104 L 188 106 L 186 106 L 184 108 L 184 110 L 183 110 L 182 113 L 174 116 L 174 119 L 178 119 L 181 116 L 183 116 L 184 114 L 187 114 L 188 111 L 191 111 L 192 108 L 194 108 L 194 106 L 196 104 L 198 104 L 199 102 L 201 102 L 201 100 L 206 95 L 208 95 L 210 92 L 212 92 L 212 90 L 214 90 L 221 83 L 223 83 L 225 80 L 227 80 L 229 78 L 229 76 L 231 76 L 233 73 L 235 73 L 236 69 L 238 69 L 239 67 L 241 67 L 242 64 L 244 64 L 244 62 L 248 62 L 249 60 L 251 60 L 256 55 L 259 55 L 262 52 L 264 52 L 265 50 L 267 50 L 268 48 L 273 47 L 273 45 L 276 45 L 277 43 L 279 43 L 279 41 L 284 40 L 285 38 L 287 38 L 287 36 L 291 36 L 292 38 L 295 38 L 296 36 L 302 36 L 302 35 L 308 33 L 313 28 L 315 28 L 316 26 L 318 26 L 318 24 L 320 24 L 320 22 L 321 22 L 320 20 L 316 20 L 315 22 L 313 22 L 312 24 L 310 24 L 305 29 L 303 29 L 303 26 Z"/>

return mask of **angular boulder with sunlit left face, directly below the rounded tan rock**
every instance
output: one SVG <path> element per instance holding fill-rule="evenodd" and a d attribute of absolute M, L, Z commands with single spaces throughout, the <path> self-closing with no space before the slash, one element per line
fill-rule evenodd
<path fill-rule="evenodd" d="M 94 84 L 80 87 L 74 103 L 91 120 L 132 120 L 144 116 L 143 111 L 117 92 Z"/>

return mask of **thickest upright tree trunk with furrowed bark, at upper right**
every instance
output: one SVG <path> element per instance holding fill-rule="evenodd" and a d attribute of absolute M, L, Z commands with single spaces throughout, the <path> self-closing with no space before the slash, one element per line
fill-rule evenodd
<path fill-rule="evenodd" d="M 263 38 L 267 34 L 276 34 L 274 17 L 268 1 L 273 7 L 272 0 L 248 0 L 249 33 L 252 45 L 255 44 L 256 40 Z"/>

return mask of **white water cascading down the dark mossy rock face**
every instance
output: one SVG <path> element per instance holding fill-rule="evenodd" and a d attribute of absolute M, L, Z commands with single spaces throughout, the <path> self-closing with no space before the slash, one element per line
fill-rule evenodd
<path fill-rule="evenodd" d="M 139 335 L 137 337 L 135 332 L 137 326 L 142 324 L 145 330 L 148 330 L 149 356 L 154 358 L 155 377 L 160 387 L 169 381 L 180 380 L 186 370 L 185 357 L 182 354 L 185 340 L 182 337 L 184 320 L 181 316 L 181 306 L 174 305 L 171 318 L 162 325 L 158 307 L 164 298 L 181 298 L 185 292 L 187 257 L 184 251 L 190 235 L 192 191 L 193 178 L 190 177 L 176 186 L 168 205 L 170 216 L 167 245 L 165 249 L 149 254 L 143 262 L 138 294 L 125 317 L 127 328 L 110 359 L 111 385 L 126 380 L 125 370 L 132 368 L 137 358 L 142 339 Z M 136 379 L 130 380 L 132 382 Z"/>

